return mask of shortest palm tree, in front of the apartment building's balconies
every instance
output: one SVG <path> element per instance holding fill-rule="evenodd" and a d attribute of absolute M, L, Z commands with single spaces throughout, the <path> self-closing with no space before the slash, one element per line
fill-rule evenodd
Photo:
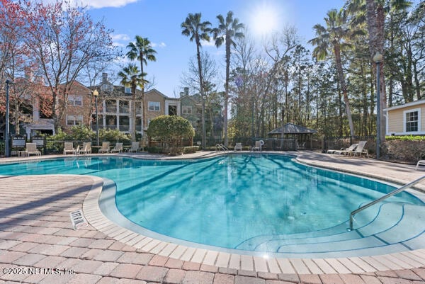
<path fill-rule="evenodd" d="M 147 83 L 145 79 L 143 79 L 143 76 L 146 76 L 146 74 L 140 73 L 139 69 L 137 69 L 137 66 L 135 64 L 128 64 L 127 67 L 123 68 L 123 71 L 118 72 L 118 76 L 120 76 L 121 81 L 120 84 L 123 84 L 123 86 L 130 86 L 131 93 L 132 93 L 132 110 L 131 110 L 131 140 L 136 141 L 136 89 L 137 86 L 140 88 L 143 88 L 143 85 Z M 143 97 L 142 97 L 143 98 Z M 143 103 L 143 99 L 142 99 Z"/>

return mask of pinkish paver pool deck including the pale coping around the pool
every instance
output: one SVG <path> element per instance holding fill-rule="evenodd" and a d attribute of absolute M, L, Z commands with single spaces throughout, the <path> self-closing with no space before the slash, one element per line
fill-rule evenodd
<path fill-rule="evenodd" d="M 294 154 L 305 164 L 396 183 L 425 175 L 407 164 L 317 152 Z M 18 158 L 0 159 L 8 161 Z M 102 184 L 94 176 L 0 176 L 0 283 L 425 283 L 425 248 L 382 256 L 276 261 L 253 256 L 232 259 L 164 245 L 117 229 L 99 215 L 97 191 Z M 425 189 L 425 183 L 418 188 Z M 74 230 L 69 212 L 78 209 L 84 210 L 90 225 Z"/>

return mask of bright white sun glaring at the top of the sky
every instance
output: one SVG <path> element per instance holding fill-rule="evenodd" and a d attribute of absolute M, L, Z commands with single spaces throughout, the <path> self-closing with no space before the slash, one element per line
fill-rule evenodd
<path fill-rule="evenodd" d="M 251 30 L 256 35 L 267 35 L 278 29 L 278 11 L 271 4 L 260 4 L 251 13 Z"/>

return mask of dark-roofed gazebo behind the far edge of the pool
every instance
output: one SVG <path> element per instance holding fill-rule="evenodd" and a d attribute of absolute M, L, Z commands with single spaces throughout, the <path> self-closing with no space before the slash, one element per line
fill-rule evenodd
<path fill-rule="evenodd" d="M 304 126 L 295 125 L 293 123 L 286 123 L 285 125 L 268 132 L 269 137 L 281 140 L 295 140 L 298 144 L 305 143 L 307 147 L 312 148 L 311 135 L 316 134 L 317 130 L 313 130 Z M 310 144 L 308 143 L 310 142 Z M 295 146 L 295 149 L 297 146 Z"/>

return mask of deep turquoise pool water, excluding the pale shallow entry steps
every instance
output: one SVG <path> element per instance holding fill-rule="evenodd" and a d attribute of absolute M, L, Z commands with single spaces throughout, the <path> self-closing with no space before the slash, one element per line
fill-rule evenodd
<path fill-rule="evenodd" d="M 110 178 L 116 183 L 116 206 L 128 220 L 176 239 L 230 249 L 265 235 L 345 230 L 341 224 L 352 210 L 394 189 L 292 159 L 272 154 L 179 161 L 79 157 L 5 164 L 0 175 Z M 422 204 L 405 192 L 387 202 Z"/>

